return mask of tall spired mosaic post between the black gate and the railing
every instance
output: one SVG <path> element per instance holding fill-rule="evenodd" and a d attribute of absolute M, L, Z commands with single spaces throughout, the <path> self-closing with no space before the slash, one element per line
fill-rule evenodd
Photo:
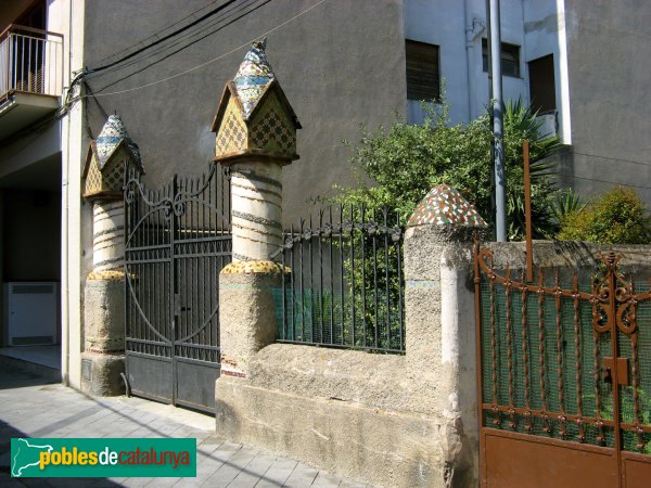
<path fill-rule="evenodd" d="M 277 336 L 273 290 L 282 244 L 282 167 L 297 159 L 301 125 L 255 42 L 228 81 L 213 124 L 215 162 L 230 168 L 233 262 L 219 278 L 221 376 L 245 377 L 248 359 Z M 217 404 L 219 413 L 219 403 Z"/>

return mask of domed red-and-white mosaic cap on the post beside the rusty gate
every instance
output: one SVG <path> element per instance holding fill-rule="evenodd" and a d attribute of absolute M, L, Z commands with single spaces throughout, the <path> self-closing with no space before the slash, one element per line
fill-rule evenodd
<path fill-rule="evenodd" d="M 430 190 L 407 222 L 409 227 L 424 224 L 488 227 L 475 207 L 447 184 Z"/>

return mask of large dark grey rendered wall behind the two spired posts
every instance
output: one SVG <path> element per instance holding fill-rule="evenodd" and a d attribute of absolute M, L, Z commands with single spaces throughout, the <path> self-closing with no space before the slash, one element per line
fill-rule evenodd
<path fill-rule="evenodd" d="M 120 0 L 90 2 L 86 9 L 85 64 L 100 61 L 188 13 L 205 0 Z M 122 91 L 151 84 L 261 36 L 317 0 L 268 3 L 233 25 L 152 68 L 105 90 Z M 329 193 L 332 183 L 353 184 L 344 139 L 359 139 L 359 124 L 374 128 L 406 110 L 403 4 L 400 0 L 328 0 L 268 35 L 267 54 L 304 129 L 298 133 L 301 159 L 283 171 L 284 223 L 306 214 L 310 198 Z M 232 79 L 245 48 L 204 68 L 166 82 L 126 93 L 100 97 L 106 112 L 123 117 L 140 145 L 148 181 L 167 181 L 177 171 L 201 174 L 212 160 L 210 124 L 227 80 Z M 89 78 L 99 91 L 118 73 Z M 89 121 L 94 134 L 103 117 L 92 101 Z"/>

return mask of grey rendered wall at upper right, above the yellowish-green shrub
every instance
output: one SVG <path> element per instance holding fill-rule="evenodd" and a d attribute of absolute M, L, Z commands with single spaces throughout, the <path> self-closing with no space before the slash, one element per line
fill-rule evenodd
<path fill-rule="evenodd" d="M 565 0 L 573 167 L 580 193 L 613 184 L 651 204 L 651 2 Z"/>

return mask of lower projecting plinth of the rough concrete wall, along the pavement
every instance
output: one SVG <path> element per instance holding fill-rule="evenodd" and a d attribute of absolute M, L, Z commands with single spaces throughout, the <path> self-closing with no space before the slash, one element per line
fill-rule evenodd
<path fill-rule="evenodd" d="M 375 486 L 449 487 L 445 426 L 425 415 L 263 389 L 246 380 L 216 383 L 217 435 L 283 452 Z M 468 476 L 470 475 L 470 476 Z M 471 473 L 455 478 L 472 479 Z"/>

